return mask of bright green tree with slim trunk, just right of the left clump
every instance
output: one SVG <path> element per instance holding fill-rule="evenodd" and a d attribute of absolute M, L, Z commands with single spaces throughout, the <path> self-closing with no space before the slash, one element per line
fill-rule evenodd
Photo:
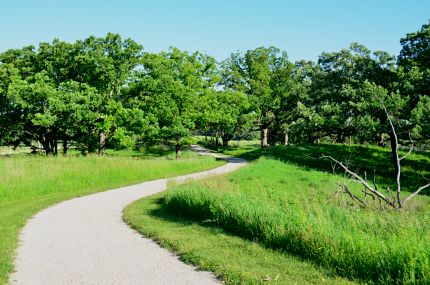
<path fill-rule="evenodd" d="M 195 129 L 199 100 L 216 82 L 215 60 L 171 48 L 169 52 L 147 53 L 141 63 L 143 69 L 131 87 L 131 101 L 156 124 L 153 133 L 173 142 L 179 157 L 181 145 L 187 144 Z"/>

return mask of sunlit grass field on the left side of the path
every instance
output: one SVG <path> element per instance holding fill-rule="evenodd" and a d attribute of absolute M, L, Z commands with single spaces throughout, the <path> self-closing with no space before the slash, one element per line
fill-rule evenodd
<path fill-rule="evenodd" d="M 0 157 L 0 284 L 13 270 L 19 231 L 35 213 L 73 197 L 221 165 L 196 154 L 184 157 Z"/>

